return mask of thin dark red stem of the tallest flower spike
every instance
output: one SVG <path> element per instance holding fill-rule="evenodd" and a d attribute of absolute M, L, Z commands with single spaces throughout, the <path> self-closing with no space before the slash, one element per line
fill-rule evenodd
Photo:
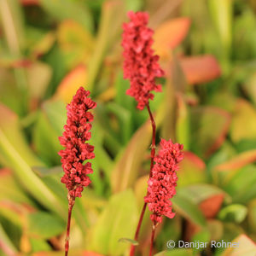
<path fill-rule="evenodd" d="M 151 143 L 151 163 L 150 163 L 150 172 L 149 172 L 149 177 L 152 177 L 152 169 L 154 166 L 154 154 L 155 154 L 155 131 L 156 131 L 156 126 L 155 126 L 155 121 L 154 121 L 154 116 L 150 110 L 149 104 L 146 105 L 147 109 L 148 109 L 148 114 L 149 114 L 149 118 L 150 118 L 150 122 L 151 122 L 151 126 L 152 126 L 152 143 Z M 134 240 L 137 241 L 138 239 L 138 235 L 141 229 L 141 225 L 143 223 L 143 217 L 144 217 L 144 213 L 146 211 L 146 207 L 147 207 L 147 203 L 145 202 L 143 205 L 143 210 L 141 212 L 140 218 L 139 218 L 139 222 L 137 224 L 137 230 L 134 236 Z M 131 245 L 131 249 L 130 249 L 130 256 L 134 256 L 135 253 L 135 246 Z"/>

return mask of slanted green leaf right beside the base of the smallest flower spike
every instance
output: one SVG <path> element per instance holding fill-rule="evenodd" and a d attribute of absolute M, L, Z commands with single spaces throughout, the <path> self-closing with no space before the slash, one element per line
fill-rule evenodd
<path fill-rule="evenodd" d="M 186 198 L 183 195 L 178 195 L 177 192 L 177 195 L 172 198 L 172 203 L 175 211 L 181 214 L 184 218 L 188 218 L 194 224 L 201 227 L 206 226 L 206 219 L 191 199 Z"/>

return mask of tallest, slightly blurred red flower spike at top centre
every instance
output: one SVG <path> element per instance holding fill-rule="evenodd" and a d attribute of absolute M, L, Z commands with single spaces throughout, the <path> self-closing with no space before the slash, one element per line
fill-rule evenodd
<path fill-rule="evenodd" d="M 128 13 L 130 22 L 123 25 L 124 77 L 130 79 L 131 88 L 126 91 L 137 100 L 137 108 L 143 110 L 148 100 L 154 99 L 152 90 L 160 91 L 160 84 L 155 78 L 164 75 L 158 64 L 159 56 L 154 55 L 153 30 L 147 27 L 148 14 L 143 12 Z"/>

